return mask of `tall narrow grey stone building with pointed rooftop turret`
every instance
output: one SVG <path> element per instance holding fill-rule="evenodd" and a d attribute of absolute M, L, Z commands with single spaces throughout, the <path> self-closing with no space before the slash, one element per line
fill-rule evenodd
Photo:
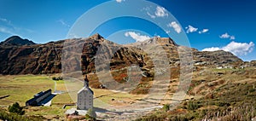
<path fill-rule="evenodd" d="M 87 75 L 84 78 L 84 87 L 78 92 L 78 110 L 88 110 L 93 108 L 93 91 L 89 88 Z"/>

